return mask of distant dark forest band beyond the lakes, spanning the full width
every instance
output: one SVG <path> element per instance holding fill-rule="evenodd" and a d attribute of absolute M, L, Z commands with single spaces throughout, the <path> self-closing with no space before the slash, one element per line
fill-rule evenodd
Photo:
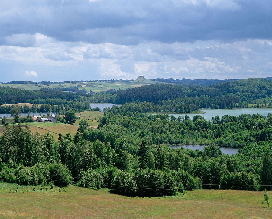
<path fill-rule="evenodd" d="M 0 87 L 0 105 L 50 104 L 56 105 L 53 109 L 63 110 L 67 107 L 66 111 L 73 108 L 76 112 L 80 112 L 90 109 L 89 103 L 101 102 L 124 104 L 120 110 L 125 113 L 133 111 L 191 113 L 201 108 L 248 108 L 250 104 L 254 107 L 272 107 L 272 81 L 269 79 L 243 79 L 209 87 L 151 84 L 126 90 L 111 89 L 96 94 L 77 93 L 81 90 L 74 88 L 58 89 L 41 88 L 31 91 Z M 23 109 L 22 112 L 26 112 L 25 110 L 28 109 Z M 29 112 L 39 112 L 39 110 L 33 106 Z M 9 111 L 8 106 L 0 106 L 0 113 L 9 113 Z"/>

